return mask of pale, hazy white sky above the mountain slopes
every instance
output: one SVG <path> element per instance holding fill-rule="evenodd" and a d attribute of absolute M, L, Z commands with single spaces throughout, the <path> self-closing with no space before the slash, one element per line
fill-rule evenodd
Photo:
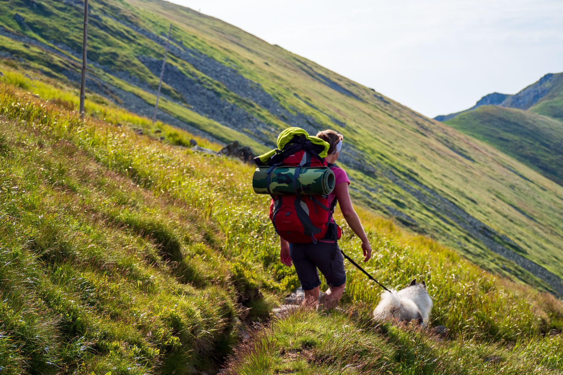
<path fill-rule="evenodd" d="M 434 117 L 563 71 L 563 0 L 174 0 Z"/>

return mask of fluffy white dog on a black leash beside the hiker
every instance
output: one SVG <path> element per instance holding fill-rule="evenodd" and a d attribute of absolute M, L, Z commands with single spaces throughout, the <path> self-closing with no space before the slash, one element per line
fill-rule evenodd
<path fill-rule="evenodd" d="M 426 291 L 426 283 L 417 283 L 417 279 L 414 279 L 408 287 L 398 292 L 391 290 L 381 293 L 381 301 L 373 310 L 373 317 L 406 323 L 415 320 L 426 325 L 431 310 L 432 299 Z"/>

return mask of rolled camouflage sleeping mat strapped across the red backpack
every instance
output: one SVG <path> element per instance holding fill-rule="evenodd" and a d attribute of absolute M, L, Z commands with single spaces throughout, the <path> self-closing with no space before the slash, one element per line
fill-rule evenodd
<path fill-rule="evenodd" d="M 327 195 L 334 189 L 334 182 L 328 166 L 260 166 L 254 170 L 252 188 L 258 194 Z"/>

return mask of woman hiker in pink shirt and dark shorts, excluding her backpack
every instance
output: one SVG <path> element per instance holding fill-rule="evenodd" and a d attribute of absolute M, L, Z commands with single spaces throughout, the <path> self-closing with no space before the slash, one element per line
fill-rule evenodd
<path fill-rule="evenodd" d="M 329 165 L 336 162 L 342 147 L 343 135 L 338 134 L 334 130 L 324 130 L 317 133 L 316 136 L 330 144 L 325 160 L 327 160 Z M 367 261 L 372 256 L 372 247 L 369 245 L 368 237 L 365 235 L 364 228 L 362 228 L 358 214 L 354 211 L 352 201 L 350 200 L 350 194 L 348 193 L 350 180 L 348 180 L 346 172 L 339 166 L 333 165 L 330 169 L 334 172 L 336 183 L 333 192 L 328 196 L 329 207 L 332 206 L 334 199 L 338 200 L 340 210 L 346 222 L 361 240 L 361 249 L 364 251 L 365 257 L 364 261 Z M 331 222 L 334 222 L 334 219 L 331 219 Z M 338 250 L 336 240 L 319 240 L 316 243 L 289 243 L 280 237 L 280 246 L 280 259 L 282 263 L 291 266 L 293 262 L 295 265 L 297 277 L 305 291 L 305 301 L 317 301 L 319 298 L 320 279 L 317 272 L 317 268 L 319 268 L 320 272 L 327 279 L 329 286 L 321 303 L 327 309 L 336 307 L 338 301 L 342 298 L 342 293 L 346 286 L 344 257 L 340 251 L 336 251 L 336 256 L 333 255 L 335 246 L 336 250 Z"/>

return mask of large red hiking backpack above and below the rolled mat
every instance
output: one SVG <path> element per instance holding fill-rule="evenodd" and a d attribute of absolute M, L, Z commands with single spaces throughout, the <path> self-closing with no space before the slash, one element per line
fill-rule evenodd
<path fill-rule="evenodd" d="M 305 135 L 296 135 L 269 160 L 269 166 L 328 166 L 319 156 L 322 147 L 311 143 Z M 325 195 L 272 195 L 270 220 L 285 241 L 309 243 L 318 240 L 337 240 L 341 229 L 330 223 L 336 198 L 329 207 Z"/>

